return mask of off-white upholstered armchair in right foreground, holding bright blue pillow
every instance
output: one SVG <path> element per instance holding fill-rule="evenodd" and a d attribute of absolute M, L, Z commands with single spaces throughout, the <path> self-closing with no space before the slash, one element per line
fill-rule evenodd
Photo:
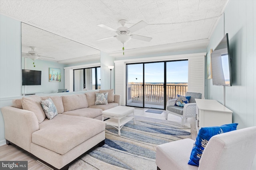
<path fill-rule="evenodd" d="M 156 147 L 158 170 L 250 170 L 256 153 L 256 127 L 213 136 L 198 166 L 188 164 L 194 142 L 182 139 Z"/>

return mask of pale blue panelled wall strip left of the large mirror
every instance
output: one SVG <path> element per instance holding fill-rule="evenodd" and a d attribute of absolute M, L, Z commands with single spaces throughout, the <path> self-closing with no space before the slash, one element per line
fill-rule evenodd
<path fill-rule="evenodd" d="M 20 21 L 0 15 L 0 108 L 4 99 L 21 95 Z M 4 140 L 4 119 L 0 114 L 0 145 Z"/>

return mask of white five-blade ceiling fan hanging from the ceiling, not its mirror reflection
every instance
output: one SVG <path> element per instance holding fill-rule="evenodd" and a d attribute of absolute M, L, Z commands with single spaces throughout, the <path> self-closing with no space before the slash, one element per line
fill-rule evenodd
<path fill-rule="evenodd" d="M 98 24 L 98 26 L 108 29 L 110 31 L 114 31 L 117 33 L 117 35 L 115 36 L 111 36 L 111 37 L 106 37 L 106 38 L 102 38 L 102 39 L 97 39 L 97 41 L 101 41 L 101 40 L 105 40 L 105 39 L 110 39 L 115 37 L 118 41 L 120 41 L 123 45 L 124 43 L 130 41 L 130 39 L 138 39 L 141 41 L 151 41 L 151 37 L 145 37 L 142 35 L 136 35 L 136 34 L 132 34 L 135 31 L 138 31 L 139 29 L 142 29 L 144 27 L 146 27 L 148 24 L 145 21 L 140 21 L 134 25 L 132 25 L 130 28 L 125 27 L 124 25 L 126 24 L 126 20 L 120 20 L 119 23 L 122 25 L 122 27 L 119 27 L 117 29 L 113 29 L 111 27 L 108 27 L 107 25 L 104 24 Z M 124 46 L 123 46 L 123 51 L 124 51 Z M 123 52 L 124 54 L 124 52 Z"/>

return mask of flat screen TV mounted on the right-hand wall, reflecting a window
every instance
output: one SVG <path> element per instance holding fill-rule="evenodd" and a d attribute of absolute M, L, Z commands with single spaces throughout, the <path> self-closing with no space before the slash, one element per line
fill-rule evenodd
<path fill-rule="evenodd" d="M 213 85 L 232 86 L 231 61 L 228 33 L 226 33 L 211 54 Z"/>

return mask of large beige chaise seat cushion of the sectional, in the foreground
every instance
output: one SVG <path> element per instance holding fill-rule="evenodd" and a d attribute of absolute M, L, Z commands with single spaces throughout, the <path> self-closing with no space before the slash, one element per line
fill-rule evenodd
<path fill-rule="evenodd" d="M 40 123 L 39 129 L 32 133 L 32 143 L 58 154 L 65 154 L 105 131 L 105 123 L 88 117 L 58 114 L 54 119 L 45 119 Z"/>

